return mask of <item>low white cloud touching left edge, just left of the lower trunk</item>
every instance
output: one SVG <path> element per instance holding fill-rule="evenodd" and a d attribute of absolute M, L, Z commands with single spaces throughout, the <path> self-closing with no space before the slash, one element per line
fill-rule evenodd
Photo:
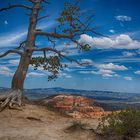
<path fill-rule="evenodd" d="M 12 76 L 13 72 L 6 66 L 0 66 L 0 75 Z"/>

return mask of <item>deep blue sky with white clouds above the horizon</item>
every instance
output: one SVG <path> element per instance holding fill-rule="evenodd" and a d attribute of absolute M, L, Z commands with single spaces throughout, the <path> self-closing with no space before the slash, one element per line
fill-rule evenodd
<path fill-rule="evenodd" d="M 74 0 L 73 0 L 74 1 Z M 5 7 L 11 0 L 1 1 Z M 13 3 L 30 4 L 13 0 Z M 49 17 L 38 23 L 38 27 L 51 30 L 56 25 L 55 18 L 62 10 L 64 0 L 52 0 L 41 15 Z M 93 27 L 109 38 L 83 34 L 79 42 L 92 46 L 90 52 L 78 53 L 74 44 L 65 45 L 57 41 L 61 50 L 67 47 L 67 55 L 79 61 L 89 62 L 88 66 L 68 63 L 56 81 L 48 82 L 47 72 L 29 68 L 25 88 L 64 87 L 87 90 L 110 90 L 140 93 L 140 1 L 139 0 L 81 0 L 81 9 L 95 14 Z M 26 10 L 9 10 L 0 13 L 0 53 L 18 46 L 26 39 L 28 16 Z M 45 38 L 38 38 L 37 44 L 48 45 Z M 40 54 L 34 54 L 40 55 Z M 12 75 L 18 65 L 19 57 L 9 55 L 0 59 L 0 87 L 10 87 Z"/>

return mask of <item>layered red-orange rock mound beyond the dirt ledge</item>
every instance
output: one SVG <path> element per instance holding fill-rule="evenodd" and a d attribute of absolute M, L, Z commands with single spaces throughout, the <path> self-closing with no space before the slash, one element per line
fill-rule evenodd
<path fill-rule="evenodd" d="M 47 102 L 45 101 L 45 104 L 54 110 L 76 118 L 95 118 L 105 114 L 103 108 L 93 105 L 92 99 L 79 95 L 57 95 Z"/>

